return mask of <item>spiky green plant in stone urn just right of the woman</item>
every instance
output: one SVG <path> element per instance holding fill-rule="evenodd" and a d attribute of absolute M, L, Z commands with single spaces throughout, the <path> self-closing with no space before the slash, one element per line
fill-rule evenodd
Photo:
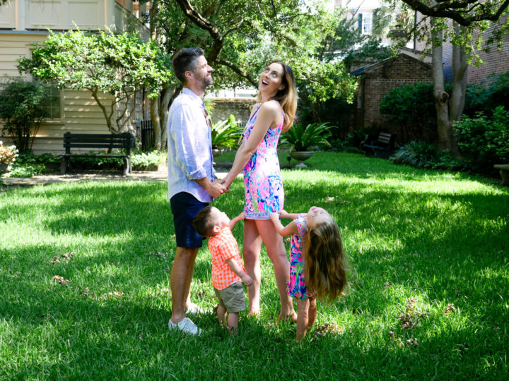
<path fill-rule="evenodd" d="M 298 123 L 281 135 L 281 145 L 290 147 L 291 157 L 298 160 L 296 167 L 306 167 L 304 161 L 312 156 L 318 146 L 330 147 L 328 139 L 332 136 L 332 128 L 334 126 L 329 126 L 327 122 L 307 126 Z"/>

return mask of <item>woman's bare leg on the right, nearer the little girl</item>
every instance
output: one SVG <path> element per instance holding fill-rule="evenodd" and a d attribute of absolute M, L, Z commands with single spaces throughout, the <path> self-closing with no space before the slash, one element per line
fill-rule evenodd
<path fill-rule="evenodd" d="M 274 275 L 276 276 L 276 284 L 279 291 L 279 300 L 281 301 L 280 320 L 297 320 L 296 312 L 293 309 L 291 297 L 286 292 L 286 282 L 290 281 L 290 262 L 286 256 L 286 248 L 284 246 L 283 237 L 274 228 L 270 219 L 257 220 L 257 229 L 267 248 L 272 265 L 274 265 Z"/>

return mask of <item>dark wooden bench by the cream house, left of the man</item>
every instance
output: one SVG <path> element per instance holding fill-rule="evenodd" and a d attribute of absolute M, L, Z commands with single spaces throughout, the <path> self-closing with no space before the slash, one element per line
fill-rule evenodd
<path fill-rule="evenodd" d="M 131 173 L 131 148 L 134 147 L 134 136 L 131 133 L 64 133 L 66 152 L 60 156 L 60 174 L 65 174 L 70 167 L 71 157 L 122 157 L 124 176 Z M 90 150 L 126 150 L 124 154 L 107 155 L 95 152 L 71 153 L 71 148 L 88 148 Z"/>

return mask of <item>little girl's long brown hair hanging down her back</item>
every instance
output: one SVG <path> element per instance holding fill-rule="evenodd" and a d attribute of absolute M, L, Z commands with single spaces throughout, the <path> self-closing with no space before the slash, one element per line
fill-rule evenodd
<path fill-rule="evenodd" d="M 305 282 L 321 301 L 332 302 L 346 287 L 346 256 L 334 220 L 313 226 L 303 237 Z"/>

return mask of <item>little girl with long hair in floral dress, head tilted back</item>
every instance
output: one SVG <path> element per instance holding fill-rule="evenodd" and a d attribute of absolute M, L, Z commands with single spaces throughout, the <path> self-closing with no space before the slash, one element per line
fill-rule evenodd
<path fill-rule="evenodd" d="M 283 226 L 281 218 L 293 219 Z M 346 286 L 345 255 L 339 229 L 330 214 L 311 207 L 307 214 L 272 213 L 281 236 L 292 236 L 288 295 L 297 299 L 297 341 L 315 322 L 316 297 L 334 301 Z"/>

